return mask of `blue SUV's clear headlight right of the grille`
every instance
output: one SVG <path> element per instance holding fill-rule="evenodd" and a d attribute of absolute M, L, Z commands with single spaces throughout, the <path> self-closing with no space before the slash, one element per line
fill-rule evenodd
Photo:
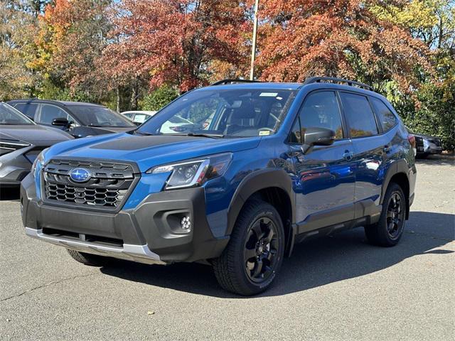
<path fill-rule="evenodd" d="M 146 173 L 158 174 L 171 172 L 171 175 L 166 181 L 166 190 L 200 186 L 207 180 L 223 175 L 228 169 L 231 160 L 232 154 L 224 153 L 194 161 L 154 167 Z"/>

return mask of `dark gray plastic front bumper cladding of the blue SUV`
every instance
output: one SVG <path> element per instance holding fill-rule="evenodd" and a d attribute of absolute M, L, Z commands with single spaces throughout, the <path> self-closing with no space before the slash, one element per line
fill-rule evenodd
<path fill-rule="evenodd" d="M 26 227 L 64 236 L 65 232 L 68 236 L 86 234 L 95 241 L 114 239 L 123 244 L 148 244 L 166 262 L 214 258 L 228 244 L 228 238 L 216 239 L 210 231 L 203 188 L 154 193 L 134 210 L 93 212 L 37 200 L 33 177 L 28 175 L 21 186 L 21 202 Z M 190 229 L 183 229 L 181 220 L 188 217 Z"/>

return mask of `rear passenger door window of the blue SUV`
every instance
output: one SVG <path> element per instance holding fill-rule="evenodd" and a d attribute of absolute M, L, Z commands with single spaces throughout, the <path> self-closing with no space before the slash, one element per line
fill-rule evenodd
<path fill-rule="evenodd" d="M 378 134 L 375 114 L 367 97 L 348 92 L 340 92 L 340 97 L 351 137 Z"/>

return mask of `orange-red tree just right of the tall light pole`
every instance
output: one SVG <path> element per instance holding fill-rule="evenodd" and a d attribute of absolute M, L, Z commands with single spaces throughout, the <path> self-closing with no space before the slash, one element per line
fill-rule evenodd
<path fill-rule="evenodd" d="M 417 71 L 431 72 L 429 49 L 360 0 L 263 0 L 258 69 L 262 80 L 348 77 L 378 90 L 394 80 L 410 92 Z"/>

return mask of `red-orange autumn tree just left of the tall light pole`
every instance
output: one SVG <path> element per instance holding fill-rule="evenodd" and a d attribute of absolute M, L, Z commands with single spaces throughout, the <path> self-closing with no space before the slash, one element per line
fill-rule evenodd
<path fill-rule="evenodd" d="M 213 72 L 247 65 L 244 32 L 250 24 L 237 0 L 124 0 L 103 55 L 112 77 L 146 77 L 186 91 Z"/>

